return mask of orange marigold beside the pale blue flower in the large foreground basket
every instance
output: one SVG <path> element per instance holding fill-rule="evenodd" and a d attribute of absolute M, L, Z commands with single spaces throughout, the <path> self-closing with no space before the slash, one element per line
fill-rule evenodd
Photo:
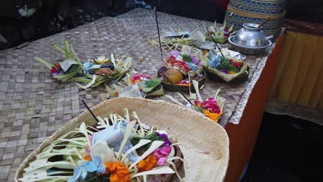
<path fill-rule="evenodd" d="M 124 166 L 123 163 L 105 163 L 106 172 L 104 174 L 110 174 L 110 182 L 129 182 L 130 181 L 130 172 Z"/>

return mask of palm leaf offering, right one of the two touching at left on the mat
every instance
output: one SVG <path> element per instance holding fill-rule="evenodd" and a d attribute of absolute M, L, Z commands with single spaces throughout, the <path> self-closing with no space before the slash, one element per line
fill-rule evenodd
<path fill-rule="evenodd" d="M 75 80 L 88 83 L 87 85 L 77 84 L 81 88 L 93 88 L 111 79 L 117 79 L 118 81 L 128 71 L 131 65 L 133 65 L 133 58 L 126 57 L 126 55 L 121 57 L 121 59 L 115 59 L 113 53 L 111 53 L 110 58 L 99 56 L 97 59 L 86 61 L 82 66 L 83 75 L 76 77 Z"/>

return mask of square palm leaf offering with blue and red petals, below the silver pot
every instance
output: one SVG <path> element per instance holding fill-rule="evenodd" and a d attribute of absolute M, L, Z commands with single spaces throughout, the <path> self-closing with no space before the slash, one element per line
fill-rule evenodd
<path fill-rule="evenodd" d="M 239 54 L 235 54 L 228 48 L 222 48 L 221 52 L 212 49 L 209 52 L 200 54 L 199 59 L 202 60 L 201 63 L 204 68 L 225 82 L 230 82 L 234 79 L 239 79 L 239 81 L 248 79 L 248 64 L 246 61 L 237 59 L 240 58 Z"/>

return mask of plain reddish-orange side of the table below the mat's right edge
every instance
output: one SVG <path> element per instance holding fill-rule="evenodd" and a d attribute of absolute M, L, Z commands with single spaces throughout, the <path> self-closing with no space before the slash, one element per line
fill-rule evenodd
<path fill-rule="evenodd" d="M 240 123 L 238 125 L 228 123 L 225 126 L 230 141 L 230 159 L 225 182 L 239 181 L 251 154 L 253 154 L 283 40 L 283 36 L 278 39 L 275 49 L 268 57 L 266 66 L 250 94 L 246 108 L 244 108 Z"/>

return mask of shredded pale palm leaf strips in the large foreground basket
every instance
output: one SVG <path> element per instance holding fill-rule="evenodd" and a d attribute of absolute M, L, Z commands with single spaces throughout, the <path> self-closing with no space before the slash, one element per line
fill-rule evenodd
<path fill-rule="evenodd" d="M 110 114 L 104 118 L 97 117 L 99 123 L 95 125 L 95 128 L 92 126 L 86 127 L 85 123 L 81 123 L 79 128 L 63 134 L 63 136 L 60 136 L 59 139 L 50 143 L 42 152 L 37 154 L 36 159 L 24 169 L 25 173 L 19 181 L 68 181 L 75 175 L 73 168 L 78 167 L 87 154 L 86 149 L 91 145 L 89 134 L 93 135 L 99 130 L 115 127 L 120 122 L 126 122 L 126 129 L 123 131 L 124 139 L 121 141 L 119 150 L 114 151 L 112 148 L 109 148 L 106 142 L 97 141 L 91 147 L 91 157 L 96 154 L 101 155 L 100 157 L 103 160 L 121 162 L 130 172 L 130 179 L 135 181 L 146 181 L 147 176 L 156 174 L 175 173 L 179 176 L 173 161 L 184 161 L 184 159 L 174 156 L 173 147 L 165 165 L 148 171 L 138 172 L 137 164 L 163 145 L 164 141 L 155 135 L 157 128 L 141 123 L 136 112 L 133 112 L 132 115 L 135 120 L 130 120 L 130 114 L 124 108 L 124 117 L 121 117 L 119 114 Z M 179 144 L 173 136 L 168 135 L 168 139 L 174 141 L 171 146 Z M 133 148 L 128 149 L 126 152 L 121 152 L 129 140 L 132 141 Z M 128 155 L 135 150 L 141 151 L 141 154 L 136 161 L 130 161 Z M 83 181 L 107 181 L 109 175 L 100 176 L 96 172 L 88 172 Z M 179 180 L 182 181 L 180 176 Z"/>

